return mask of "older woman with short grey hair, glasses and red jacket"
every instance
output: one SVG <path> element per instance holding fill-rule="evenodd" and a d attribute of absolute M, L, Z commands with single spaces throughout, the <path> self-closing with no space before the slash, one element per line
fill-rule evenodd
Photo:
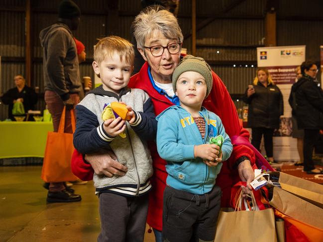
<path fill-rule="evenodd" d="M 167 10 L 151 8 L 141 12 L 134 20 L 134 35 L 137 48 L 146 63 L 139 73 L 134 75 L 129 87 L 145 90 L 154 105 L 155 114 L 158 115 L 169 106 L 178 104 L 178 97 L 172 87 L 172 74 L 181 58 L 183 34 L 176 17 Z M 205 99 L 203 105 L 215 112 L 222 120 L 226 133 L 231 140 L 243 136 L 248 138 L 239 122 L 235 106 L 223 82 L 213 72 L 213 87 L 211 94 Z M 244 139 L 244 138 L 242 138 Z M 154 175 L 151 179 L 153 190 L 150 192 L 148 224 L 154 229 L 156 241 L 161 241 L 163 192 L 166 186 L 166 161 L 162 160 L 155 143 L 150 143 L 150 153 L 153 160 Z M 113 155 L 111 156 L 112 158 Z M 93 178 L 93 170 L 107 176 L 123 175 L 127 168 L 110 158 L 100 154 L 83 156 L 74 153 L 72 170 L 81 179 Z M 216 178 L 216 184 L 223 191 L 222 206 L 229 206 L 230 188 L 237 181 L 243 180 L 248 184 L 254 177 L 251 165 L 255 162 L 254 153 L 244 145 L 234 145 L 229 160 L 223 162 L 222 170 Z M 239 178 L 240 176 L 240 178 Z M 247 188 L 243 187 L 247 192 Z"/>

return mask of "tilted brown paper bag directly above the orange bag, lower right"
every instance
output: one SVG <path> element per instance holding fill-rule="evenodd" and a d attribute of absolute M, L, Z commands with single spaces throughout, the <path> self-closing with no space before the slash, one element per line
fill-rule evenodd
<path fill-rule="evenodd" d="M 323 229 L 323 209 L 293 194 L 273 187 L 273 197 L 269 204 L 278 211 L 306 224 Z"/>

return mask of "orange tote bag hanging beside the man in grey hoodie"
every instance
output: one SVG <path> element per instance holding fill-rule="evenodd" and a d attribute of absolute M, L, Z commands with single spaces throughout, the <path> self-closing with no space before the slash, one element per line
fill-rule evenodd
<path fill-rule="evenodd" d="M 64 133 L 64 107 L 58 132 L 48 132 L 46 149 L 41 170 L 41 178 L 45 182 L 74 181 L 77 177 L 71 170 L 71 158 L 74 151 L 73 134 Z M 74 111 L 71 110 L 72 130 L 75 132 Z"/>

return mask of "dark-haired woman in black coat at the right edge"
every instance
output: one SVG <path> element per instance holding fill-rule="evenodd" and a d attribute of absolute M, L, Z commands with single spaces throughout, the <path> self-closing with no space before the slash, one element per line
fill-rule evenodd
<path fill-rule="evenodd" d="M 301 65 L 303 77 L 293 85 L 296 97 L 296 119 L 300 129 L 304 129 L 304 171 L 308 174 L 321 174 L 321 169 L 314 166 L 312 160 L 314 143 L 323 128 L 323 90 L 318 86 L 315 77 L 318 67 L 314 61 Z"/>

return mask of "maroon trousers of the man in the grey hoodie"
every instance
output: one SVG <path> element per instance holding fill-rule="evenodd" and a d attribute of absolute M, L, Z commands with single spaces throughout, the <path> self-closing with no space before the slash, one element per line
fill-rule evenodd
<path fill-rule="evenodd" d="M 75 105 L 80 102 L 80 96 L 79 94 L 70 94 L 73 102 L 74 102 L 74 108 Z M 52 115 L 53 118 L 53 127 L 54 132 L 58 131 L 59 122 L 61 120 L 62 112 L 64 109 L 64 103 L 61 97 L 54 91 L 45 91 L 45 102 L 47 104 L 48 111 Z M 71 113 L 66 112 L 65 114 L 65 133 L 73 133 L 72 131 L 72 123 L 71 123 Z M 63 182 L 51 182 L 49 184 L 49 191 L 50 192 L 59 192 L 65 189 Z"/>

